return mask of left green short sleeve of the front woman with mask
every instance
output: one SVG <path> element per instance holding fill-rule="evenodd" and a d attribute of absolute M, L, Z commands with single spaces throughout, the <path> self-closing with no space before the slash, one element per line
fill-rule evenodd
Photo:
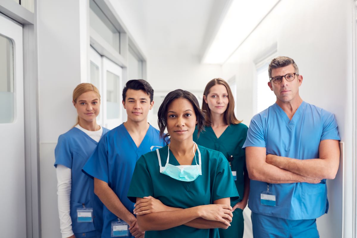
<path fill-rule="evenodd" d="M 147 196 L 154 196 L 154 188 L 145 158 L 141 156 L 135 164 L 127 197 L 135 203 L 137 197 Z"/>

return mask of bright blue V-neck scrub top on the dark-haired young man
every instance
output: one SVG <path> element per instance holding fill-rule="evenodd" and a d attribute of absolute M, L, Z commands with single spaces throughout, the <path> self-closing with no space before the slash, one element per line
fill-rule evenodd
<path fill-rule="evenodd" d="M 159 131 L 150 125 L 138 148 L 124 124 L 121 124 L 101 138 L 83 170 L 90 176 L 108 183 L 122 204 L 132 213 L 134 203 L 126 197 L 126 194 L 136 161 L 141 155 L 150 152 L 151 146 L 165 145 L 159 137 Z M 104 206 L 103 219 L 102 237 L 110 237 L 111 222 L 117 221 L 117 217 Z M 129 237 L 131 237 L 130 233 Z"/>

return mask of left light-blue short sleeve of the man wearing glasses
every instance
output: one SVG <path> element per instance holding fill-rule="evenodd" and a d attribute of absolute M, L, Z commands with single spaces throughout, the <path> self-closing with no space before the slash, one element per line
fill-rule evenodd
<path fill-rule="evenodd" d="M 263 123 L 259 114 L 252 118 L 248 128 L 247 138 L 242 148 L 245 149 L 245 147 L 248 146 L 266 147 Z"/>

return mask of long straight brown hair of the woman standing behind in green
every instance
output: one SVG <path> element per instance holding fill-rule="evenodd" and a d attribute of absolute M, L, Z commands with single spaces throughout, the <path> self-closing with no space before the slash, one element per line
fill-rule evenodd
<path fill-rule="evenodd" d="M 205 97 L 207 98 L 208 94 L 210 93 L 210 89 L 211 87 L 217 85 L 217 84 L 221 84 L 224 85 L 227 89 L 228 92 L 228 107 L 226 109 L 226 111 L 224 112 L 224 119 L 225 122 L 227 123 L 227 125 L 230 124 L 239 124 L 242 121 L 239 121 L 236 118 L 236 115 L 234 114 L 234 98 L 232 95 L 232 91 L 231 88 L 229 87 L 228 83 L 226 81 L 224 81 L 221 78 L 217 78 L 217 79 L 212 79 L 211 81 L 209 81 L 206 85 L 205 91 L 203 92 L 203 95 L 205 95 Z M 205 99 L 203 98 L 202 100 L 202 110 L 206 111 L 206 126 L 211 126 L 211 109 L 210 107 L 208 107 L 208 104 L 205 102 Z"/>

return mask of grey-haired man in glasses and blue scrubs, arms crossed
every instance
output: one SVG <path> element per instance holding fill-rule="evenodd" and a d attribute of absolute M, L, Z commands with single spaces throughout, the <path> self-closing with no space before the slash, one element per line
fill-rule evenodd
<path fill-rule="evenodd" d="M 328 211 L 326 179 L 340 160 L 335 116 L 302 101 L 291 58 L 273 59 L 269 77 L 276 103 L 252 118 L 243 145 L 253 236 L 316 238 L 316 218 Z"/>

